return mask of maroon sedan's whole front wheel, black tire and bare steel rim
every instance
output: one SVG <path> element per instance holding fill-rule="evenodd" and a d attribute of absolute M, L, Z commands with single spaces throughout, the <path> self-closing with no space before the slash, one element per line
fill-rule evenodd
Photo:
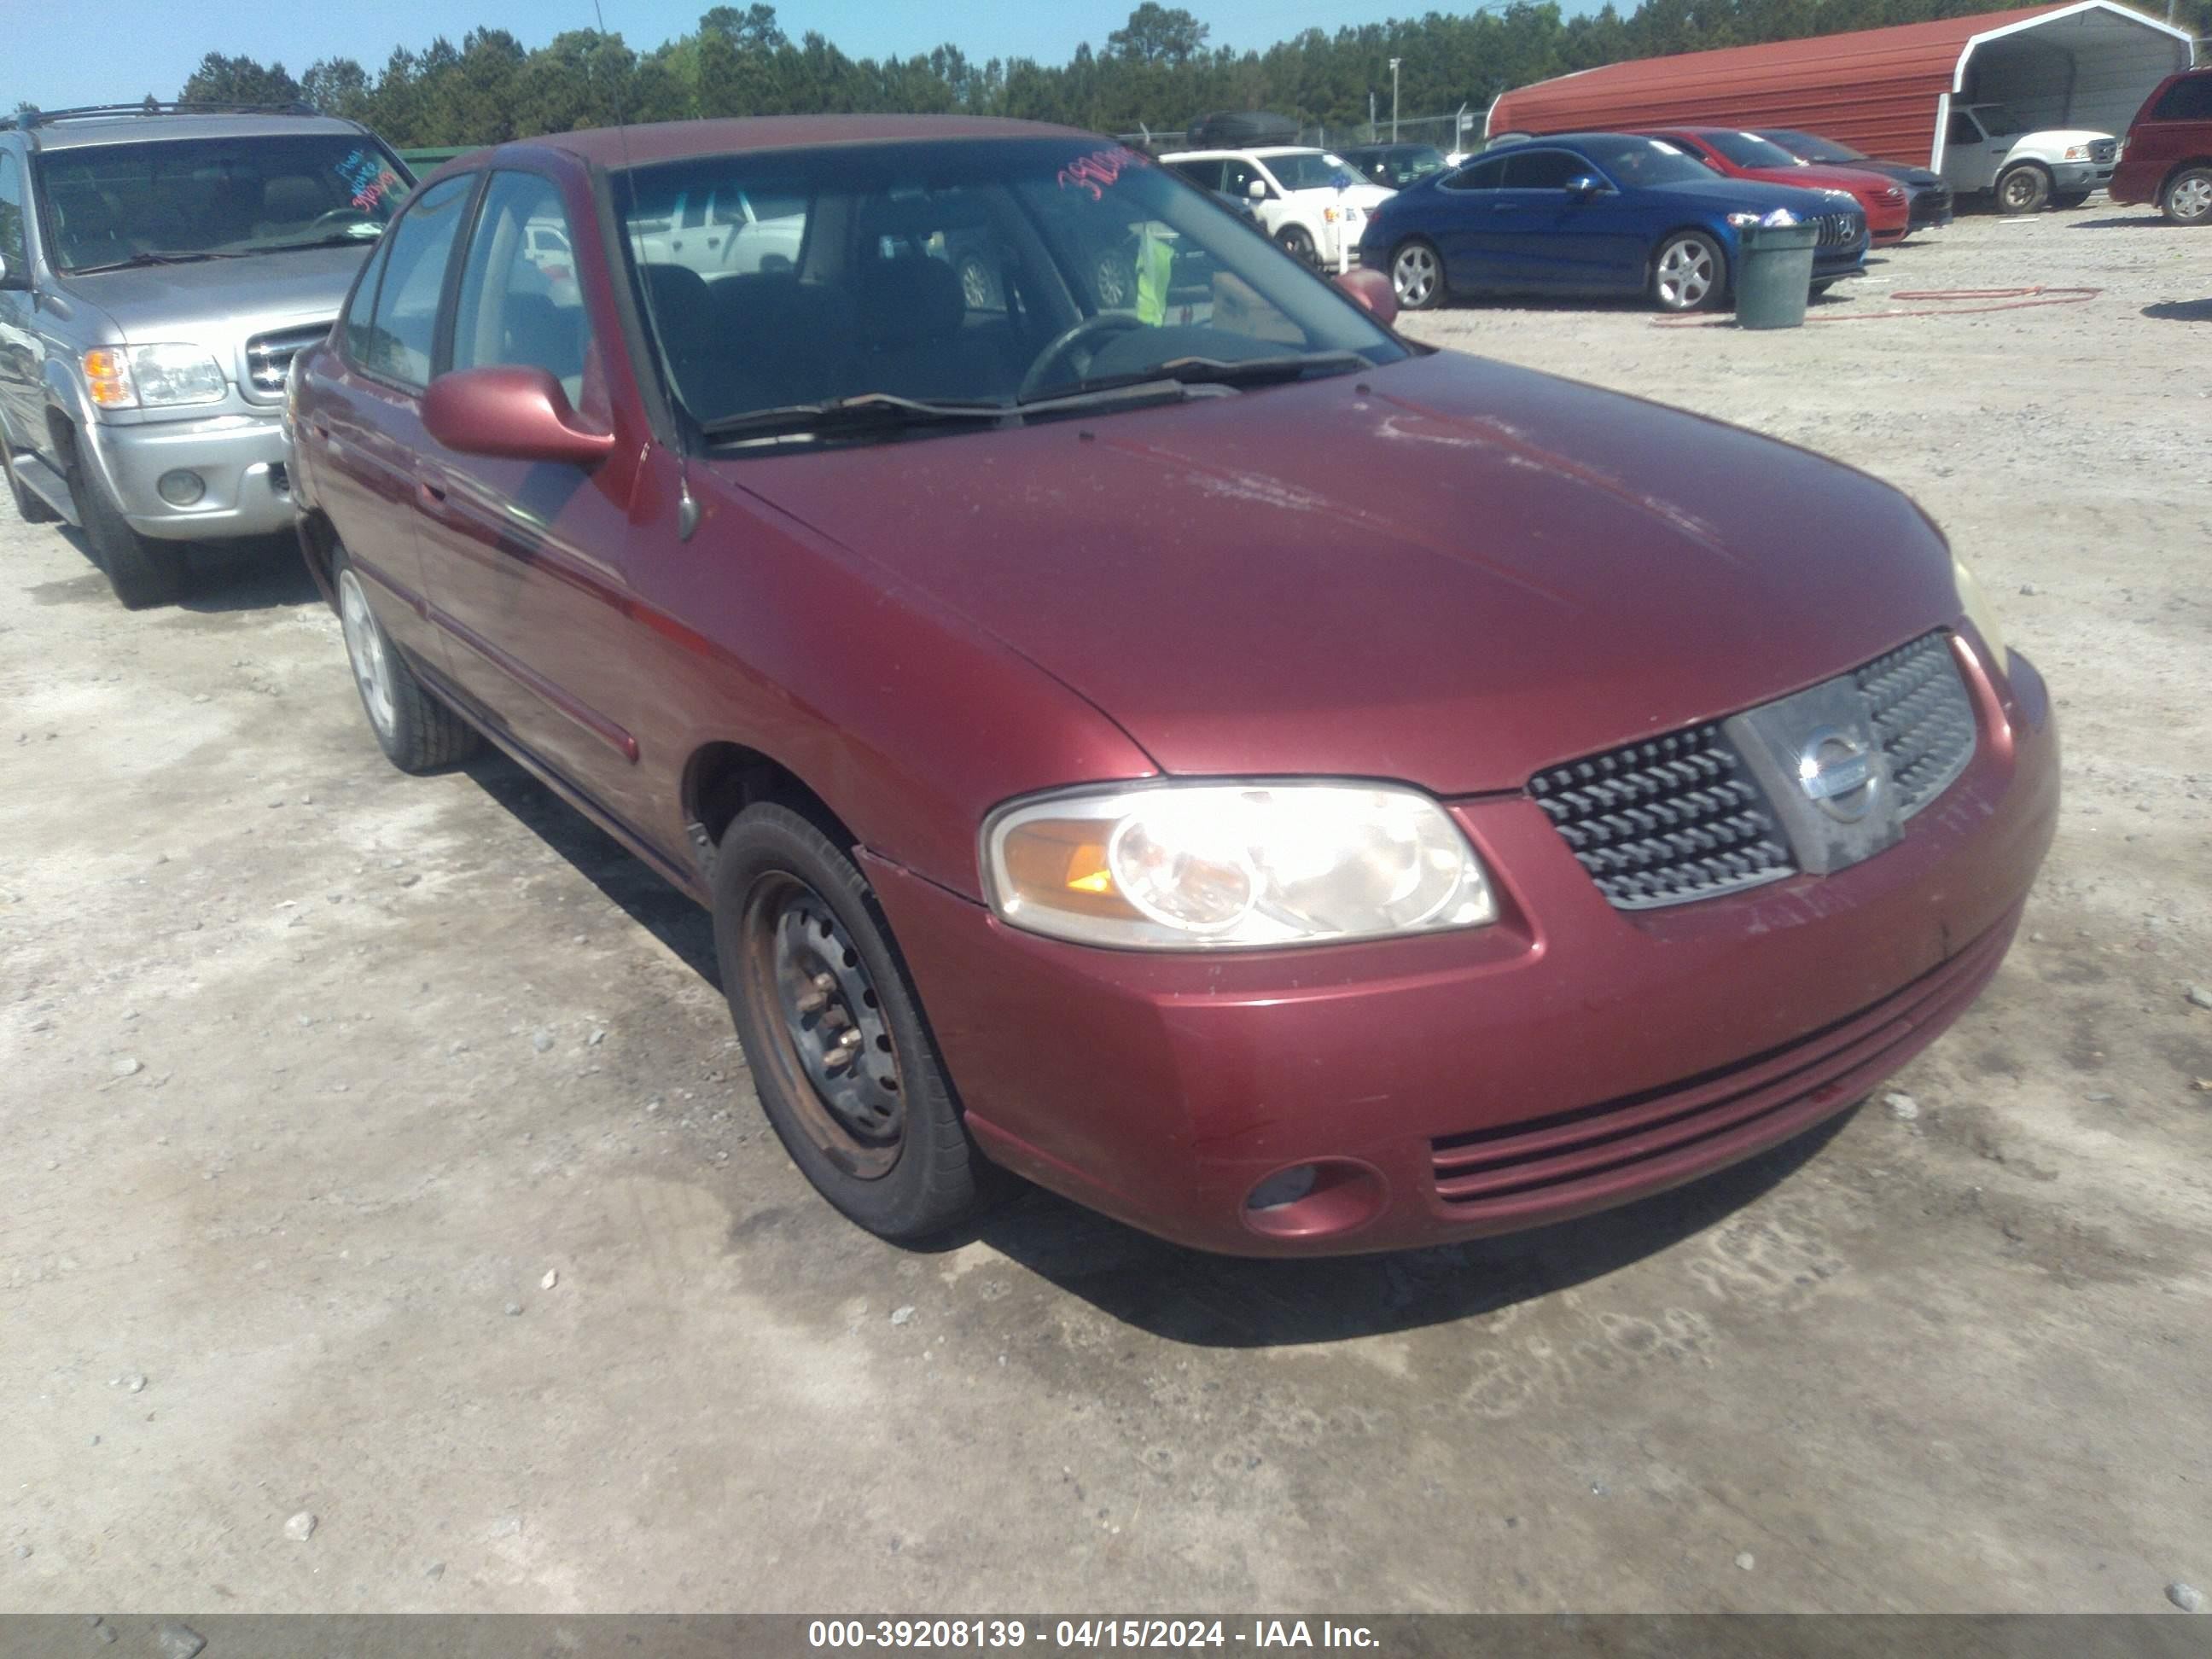
<path fill-rule="evenodd" d="M 1004 1177 L 969 1139 L 889 922 L 812 818 L 761 801 L 723 832 L 714 956 L 761 1110 L 816 1192 L 898 1243 L 998 1194 Z M 803 1009 L 816 993 L 827 1002 Z M 847 1031 L 856 1057 L 832 1068 L 832 1033 Z"/>

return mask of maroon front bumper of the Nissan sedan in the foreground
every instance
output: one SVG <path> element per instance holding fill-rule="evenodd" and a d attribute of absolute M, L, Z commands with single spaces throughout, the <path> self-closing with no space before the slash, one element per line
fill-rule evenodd
<path fill-rule="evenodd" d="M 1168 958 L 1009 929 L 880 860 L 869 878 L 969 1128 L 1020 1175 L 1232 1254 L 1509 1232 L 1774 1146 L 1964 1011 L 2057 818 L 2048 697 L 2013 661 L 1902 843 L 1674 909 L 1613 909 L 1526 796 L 1451 807 L 1502 896 L 1471 933 Z M 1327 1170 L 1310 1199 L 1248 1210 L 1301 1164 Z"/>

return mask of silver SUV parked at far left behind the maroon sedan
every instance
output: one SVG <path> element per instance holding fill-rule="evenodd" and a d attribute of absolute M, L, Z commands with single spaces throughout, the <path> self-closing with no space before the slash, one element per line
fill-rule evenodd
<path fill-rule="evenodd" d="M 0 122 L 0 460 L 126 606 L 184 544 L 292 529 L 292 354 L 330 332 L 411 188 L 310 108 L 128 104 Z"/>

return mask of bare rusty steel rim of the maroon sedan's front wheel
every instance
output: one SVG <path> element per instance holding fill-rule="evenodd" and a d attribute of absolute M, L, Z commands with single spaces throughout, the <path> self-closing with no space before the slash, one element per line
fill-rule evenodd
<path fill-rule="evenodd" d="M 847 1175 L 876 1181 L 907 1141 L 898 1040 L 874 975 L 836 911 L 799 876 L 770 872 L 745 896 L 745 991 L 763 1055 L 805 1137 Z"/>

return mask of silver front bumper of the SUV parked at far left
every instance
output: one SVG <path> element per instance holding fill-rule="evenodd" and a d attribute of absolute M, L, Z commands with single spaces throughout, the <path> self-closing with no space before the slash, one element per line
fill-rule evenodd
<path fill-rule="evenodd" d="M 170 542 L 221 542 L 292 529 L 281 411 L 91 425 L 93 456 L 131 529 Z M 195 471 L 206 493 L 190 507 L 155 482 Z"/>

